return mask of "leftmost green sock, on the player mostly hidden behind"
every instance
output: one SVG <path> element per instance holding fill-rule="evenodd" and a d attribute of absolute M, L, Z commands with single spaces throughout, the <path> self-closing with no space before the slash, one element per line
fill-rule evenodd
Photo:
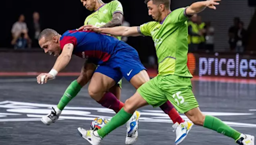
<path fill-rule="evenodd" d="M 76 97 L 77 93 L 81 90 L 82 86 L 77 83 L 76 80 L 72 81 L 72 83 L 68 86 L 67 90 L 61 97 L 61 100 L 58 104 L 58 109 L 63 110 L 65 106 L 67 106 L 68 102 Z"/>

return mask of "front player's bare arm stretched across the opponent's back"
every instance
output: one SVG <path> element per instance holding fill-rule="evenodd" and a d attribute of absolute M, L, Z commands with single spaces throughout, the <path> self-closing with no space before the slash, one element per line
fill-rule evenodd
<path fill-rule="evenodd" d="M 134 27 L 112 27 L 112 28 L 99 28 L 93 25 L 84 25 L 83 29 L 92 30 L 99 33 L 111 34 L 113 36 L 141 36 L 140 32 L 138 31 L 138 26 Z"/>

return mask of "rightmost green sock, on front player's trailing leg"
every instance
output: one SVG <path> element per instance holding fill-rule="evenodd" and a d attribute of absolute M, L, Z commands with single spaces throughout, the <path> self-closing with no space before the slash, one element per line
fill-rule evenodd
<path fill-rule="evenodd" d="M 205 116 L 204 127 L 209 128 L 211 130 L 215 130 L 216 132 L 226 135 L 228 137 L 232 137 L 234 140 L 237 140 L 241 133 L 237 132 L 233 128 L 229 127 L 223 121 L 214 116 Z"/>

